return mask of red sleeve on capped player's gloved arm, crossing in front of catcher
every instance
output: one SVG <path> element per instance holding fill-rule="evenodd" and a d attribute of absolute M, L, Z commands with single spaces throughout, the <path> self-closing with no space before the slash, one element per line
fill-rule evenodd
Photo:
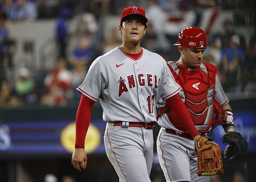
<path fill-rule="evenodd" d="M 192 121 L 185 104 L 182 102 L 180 96 L 175 96 L 166 100 L 166 106 L 172 109 L 182 126 L 186 128 L 191 137 L 195 137 L 199 134 L 194 122 Z"/>

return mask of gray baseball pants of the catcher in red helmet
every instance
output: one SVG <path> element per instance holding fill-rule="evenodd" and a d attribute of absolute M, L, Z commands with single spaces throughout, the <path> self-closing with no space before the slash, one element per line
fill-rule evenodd
<path fill-rule="evenodd" d="M 197 174 L 194 140 L 166 133 L 162 127 L 157 138 L 157 153 L 166 181 L 210 181 L 209 176 Z"/>

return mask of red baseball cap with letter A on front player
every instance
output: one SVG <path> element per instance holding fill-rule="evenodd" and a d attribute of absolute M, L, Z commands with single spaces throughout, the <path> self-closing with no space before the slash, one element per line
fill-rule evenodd
<path fill-rule="evenodd" d="M 138 6 L 130 6 L 130 7 L 123 9 L 121 16 L 120 16 L 120 24 L 121 24 L 123 18 L 125 18 L 126 16 L 129 16 L 129 15 L 139 15 L 143 18 L 144 22 L 147 22 L 145 10 L 143 10 L 142 8 L 140 8 Z"/>

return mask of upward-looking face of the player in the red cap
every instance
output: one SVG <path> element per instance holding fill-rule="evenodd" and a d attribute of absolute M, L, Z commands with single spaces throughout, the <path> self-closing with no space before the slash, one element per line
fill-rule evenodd
<path fill-rule="evenodd" d="M 122 22 L 122 27 L 119 25 L 119 32 L 122 34 L 123 42 L 139 43 L 146 30 L 143 20 L 132 16 Z"/>

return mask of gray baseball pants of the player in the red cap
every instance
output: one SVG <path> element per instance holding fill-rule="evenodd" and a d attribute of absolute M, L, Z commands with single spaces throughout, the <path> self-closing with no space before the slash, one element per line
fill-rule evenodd
<path fill-rule="evenodd" d="M 153 163 L 153 130 L 114 126 L 107 123 L 104 133 L 106 155 L 120 182 L 150 182 Z"/>

